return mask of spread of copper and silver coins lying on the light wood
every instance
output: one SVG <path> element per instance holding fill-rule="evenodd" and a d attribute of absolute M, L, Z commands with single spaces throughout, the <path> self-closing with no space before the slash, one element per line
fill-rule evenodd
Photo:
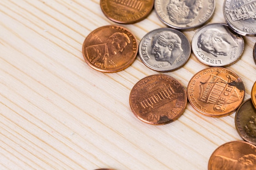
<path fill-rule="evenodd" d="M 139 45 L 123 26 L 108 25 L 92 31 L 83 42 L 82 52 L 85 62 L 95 70 L 122 71 L 138 53 L 142 63 L 154 71 L 175 71 L 186 64 L 191 50 L 200 63 L 209 66 L 191 77 L 186 90 L 164 74 L 139 80 L 129 96 L 132 113 L 147 124 L 163 125 L 184 113 L 187 100 L 208 117 L 223 117 L 237 110 L 236 130 L 245 141 L 219 146 L 209 159 L 208 170 L 256 169 L 256 83 L 252 98 L 243 102 L 243 81 L 225 68 L 242 56 L 243 36 L 256 36 L 256 0 L 225 0 L 227 24 L 207 25 L 215 0 L 101 0 L 100 5 L 108 19 L 121 24 L 143 20 L 154 6 L 159 20 L 168 27 L 148 32 Z M 181 31 L 200 26 L 190 44 Z M 256 63 L 256 44 L 253 57 Z"/>

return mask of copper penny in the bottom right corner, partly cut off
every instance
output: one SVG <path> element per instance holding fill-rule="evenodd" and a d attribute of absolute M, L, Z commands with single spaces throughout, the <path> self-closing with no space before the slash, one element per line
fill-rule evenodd
<path fill-rule="evenodd" d="M 256 146 L 245 141 L 231 141 L 211 155 L 208 170 L 256 170 Z"/>

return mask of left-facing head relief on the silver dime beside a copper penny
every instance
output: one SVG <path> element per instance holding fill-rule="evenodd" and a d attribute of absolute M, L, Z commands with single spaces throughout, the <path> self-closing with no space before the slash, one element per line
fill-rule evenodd
<path fill-rule="evenodd" d="M 171 32 L 163 31 L 153 36 L 151 54 L 156 61 L 175 63 L 183 52 L 180 37 Z"/>

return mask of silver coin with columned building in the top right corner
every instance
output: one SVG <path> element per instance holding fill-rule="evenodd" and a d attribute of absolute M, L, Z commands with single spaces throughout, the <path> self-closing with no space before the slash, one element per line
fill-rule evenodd
<path fill-rule="evenodd" d="M 223 11 L 233 31 L 256 36 L 256 0 L 225 0 Z"/>

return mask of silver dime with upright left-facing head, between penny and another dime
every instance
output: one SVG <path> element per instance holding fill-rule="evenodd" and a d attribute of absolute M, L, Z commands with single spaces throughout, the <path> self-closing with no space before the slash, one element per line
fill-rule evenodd
<path fill-rule="evenodd" d="M 191 54 L 186 36 L 175 29 L 160 28 L 150 31 L 139 43 L 139 57 L 149 68 L 174 71 L 183 66 Z"/>

